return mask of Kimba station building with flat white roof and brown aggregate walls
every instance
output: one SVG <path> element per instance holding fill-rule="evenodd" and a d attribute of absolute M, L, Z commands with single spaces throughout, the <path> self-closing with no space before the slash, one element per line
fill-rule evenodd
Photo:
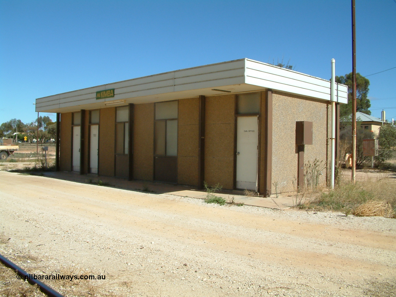
<path fill-rule="evenodd" d="M 251 59 L 43 97 L 36 111 L 57 113 L 60 171 L 270 196 L 303 185 L 316 159 L 327 179 L 330 82 Z"/>

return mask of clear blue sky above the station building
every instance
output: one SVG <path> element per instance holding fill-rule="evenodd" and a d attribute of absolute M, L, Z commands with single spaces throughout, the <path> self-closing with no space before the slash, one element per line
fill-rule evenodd
<path fill-rule="evenodd" d="M 357 72 L 396 67 L 395 29 L 394 0 L 356 0 Z M 39 97 L 244 57 L 351 72 L 350 1 L 0 0 L 0 123 L 33 121 Z M 396 118 L 396 69 L 367 78 L 372 115 Z"/>

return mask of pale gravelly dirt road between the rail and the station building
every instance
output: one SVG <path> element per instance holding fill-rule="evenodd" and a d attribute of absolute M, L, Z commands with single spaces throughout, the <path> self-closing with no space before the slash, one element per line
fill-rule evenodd
<path fill-rule="evenodd" d="M 84 284 L 115 296 L 395 296 L 395 219 L 0 179 L 3 255 L 31 273 L 106 276 L 46 281 L 68 296 Z"/>

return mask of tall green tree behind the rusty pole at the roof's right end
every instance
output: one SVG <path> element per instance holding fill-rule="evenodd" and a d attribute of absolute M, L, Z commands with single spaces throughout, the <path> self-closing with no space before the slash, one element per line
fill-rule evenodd
<path fill-rule="evenodd" d="M 336 76 L 335 82 L 348 86 L 348 104 L 340 105 L 340 116 L 345 117 L 352 114 L 352 97 L 353 97 L 353 80 L 352 72 L 345 74 L 345 76 Z M 371 107 L 370 99 L 367 98 L 369 93 L 370 81 L 356 73 L 356 111 L 365 114 L 371 114 L 369 108 Z"/>

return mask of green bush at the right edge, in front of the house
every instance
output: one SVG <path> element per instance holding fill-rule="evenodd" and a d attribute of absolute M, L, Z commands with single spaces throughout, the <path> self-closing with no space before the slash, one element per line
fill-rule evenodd
<path fill-rule="evenodd" d="M 375 159 L 383 163 L 392 157 L 392 153 L 396 150 L 396 126 L 392 124 L 384 124 L 379 128 L 378 134 L 379 152 Z"/>

